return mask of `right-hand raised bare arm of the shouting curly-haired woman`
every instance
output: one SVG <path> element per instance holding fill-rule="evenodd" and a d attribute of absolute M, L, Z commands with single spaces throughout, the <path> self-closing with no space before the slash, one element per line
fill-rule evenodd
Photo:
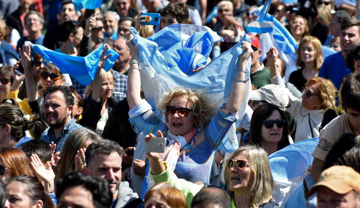
<path fill-rule="evenodd" d="M 226 109 L 228 109 L 232 114 L 236 114 L 238 112 L 240 103 L 243 100 L 246 62 L 254 52 L 251 48 L 251 44 L 246 41 L 242 43 L 242 47 L 245 53 L 239 58 L 239 68 L 234 79 L 233 87 L 231 88 L 228 103 L 225 105 Z"/>

